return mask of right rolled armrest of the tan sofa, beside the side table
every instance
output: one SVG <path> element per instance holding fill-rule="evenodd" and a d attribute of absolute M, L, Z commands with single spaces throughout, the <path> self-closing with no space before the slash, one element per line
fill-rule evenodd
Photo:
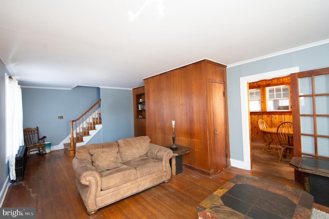
<path fill-rule="evenodd" d="M 167 180 L 170 179 L 171 177 L 171 168 L 170 168 L 169 159 L 172 156 L 173 156 L 172 150 L 157 144 L 150 143 L 150 149 L 147 154 L 147 157 L 152 159 L 162 160 L 162 167 L 163 167 L 163 171 L 167 173 L 166 174 Z"/>

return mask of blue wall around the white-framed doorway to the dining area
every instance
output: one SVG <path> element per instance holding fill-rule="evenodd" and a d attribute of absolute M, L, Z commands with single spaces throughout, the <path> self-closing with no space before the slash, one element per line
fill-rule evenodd
<path fill-rule="evenodd" d="M 243 161 L 240 78 L 298 66 L 300 71 L 329 67 L 329 44 L 301 49 L 227 68 L 231 159 Z"/>

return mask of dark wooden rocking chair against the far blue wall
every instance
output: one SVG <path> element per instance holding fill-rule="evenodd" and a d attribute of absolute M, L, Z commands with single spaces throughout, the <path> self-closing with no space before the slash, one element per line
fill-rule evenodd
<path fill-rule="evenodd" d="M 45 139 L 47 136 L 40 138 L 39 128 L 26 128 L 24 132 L 24 144 L 27 147 L 27 156 L 30 156 L 31 151 L 39 151 L 38 154 L 45 155 L 47 152 L 45 150 L 46 144 Z"/>

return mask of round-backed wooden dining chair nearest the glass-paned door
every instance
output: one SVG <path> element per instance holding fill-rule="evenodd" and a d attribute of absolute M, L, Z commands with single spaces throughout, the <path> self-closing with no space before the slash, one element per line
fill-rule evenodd
<path fill-rule="evenodd" d="M 279 139 L 279 144 L 282 147 L 279 156 L 279 163 L 281 162 L 283 155 L 293 155 L 291 153 L 294 150 L 293 141 L 293 122 L 282 122 L 277 129 L 277 135 Z"/>

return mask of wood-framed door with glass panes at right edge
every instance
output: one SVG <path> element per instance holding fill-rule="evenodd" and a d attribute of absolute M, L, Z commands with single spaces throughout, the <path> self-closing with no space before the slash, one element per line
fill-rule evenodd
<path fill-rule="evenodd" d="M 299 120 L 296 133 L 294 125 L 294 144 L 300 145 L 295 155 L 329 158 L 329 68 L 293 75 L 298 86 L 298 94 L 293 95 L 293 101 L 298 100 L 293 119 Z"/>

